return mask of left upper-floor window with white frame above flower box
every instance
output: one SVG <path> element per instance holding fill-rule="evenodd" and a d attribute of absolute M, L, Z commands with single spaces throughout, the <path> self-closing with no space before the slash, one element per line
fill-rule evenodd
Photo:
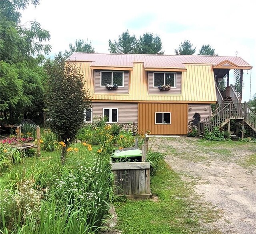
<path fill-rule="evenodd" d="M 124 87 L 124 72 L 123 71 L 101 71 L 100 86 L 118 85 Z"/>

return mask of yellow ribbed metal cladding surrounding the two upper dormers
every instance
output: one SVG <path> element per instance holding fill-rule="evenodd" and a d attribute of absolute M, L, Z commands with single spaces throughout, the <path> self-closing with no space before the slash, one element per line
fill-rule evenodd
<path fill-rule="evenodd" d="M 122 93 L 94 93 L 94 73 L 90 69 L 90 62 L 71 62 L 81 68 L 84 75 L 85 88 L 89 88 L 92 100 L 115 100 L 134 102 L 216 102 L 216 91 L 212 65 L 186 65 L 186 72 L 182 72 L 181 94 L 148 94 L 147 72 L 143 63 L 133 63 L 130 71 L 129 90 Z"/>

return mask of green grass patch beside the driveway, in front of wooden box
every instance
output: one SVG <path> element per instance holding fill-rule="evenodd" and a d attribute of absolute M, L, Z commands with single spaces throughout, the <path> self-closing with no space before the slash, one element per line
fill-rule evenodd
<path fill-rule="evenodd" d="M 166 163 L 152 178 L 151 189 L 157 200 L 114 203 L 122 234 L 184 234 L 201 230 L 199 220 L 213 219 L 212 211 L 191 199 L 192 188 Z"/>

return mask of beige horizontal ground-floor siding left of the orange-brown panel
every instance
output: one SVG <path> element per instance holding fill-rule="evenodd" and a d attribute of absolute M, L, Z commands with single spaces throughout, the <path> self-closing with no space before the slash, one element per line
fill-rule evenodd
<path fill-rule="evenodd" d="M 138 103 L 92 102 L 93 121 L 103 116 L 103 108 L 117 108 L 120 124 L 138 123 Z"/>

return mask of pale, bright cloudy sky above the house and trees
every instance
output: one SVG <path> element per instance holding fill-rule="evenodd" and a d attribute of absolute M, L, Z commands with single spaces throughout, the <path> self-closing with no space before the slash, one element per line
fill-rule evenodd
<path fill-rule="evenodd" d="M 196 47 L 195 54 L 203 44 L 222 56 L 236 56 L 237 51 L 253 66 L 252 98 L 256 93 L 255 10 L 255 0 L 41 0 L 36 8 L 30 5 L 21 12 L 21 24 L 36 20 L 50 31 L 51 57 L 76 39 L 88 39 L 97 53 L 109 53 L 108 39 L 118 39 L 126 29 L 136 37 L 146 32 L 160 35 L 168 55 L 185 39 Z M 243 101 L 249 98 L 250 71 L 244 71 Z"/>

